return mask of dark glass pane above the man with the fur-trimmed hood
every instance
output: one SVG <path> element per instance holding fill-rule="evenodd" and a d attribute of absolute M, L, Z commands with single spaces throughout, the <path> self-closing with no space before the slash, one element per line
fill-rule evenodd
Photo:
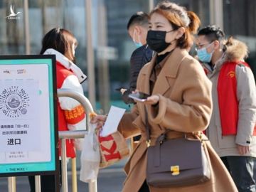
<path fill-rule="evenodd" d="M 223 1 L 224 31 L 226 36 L 234 36 L 245 42 L 249 48 L 249 63 L 256 76 L 256 1 Z"/>

